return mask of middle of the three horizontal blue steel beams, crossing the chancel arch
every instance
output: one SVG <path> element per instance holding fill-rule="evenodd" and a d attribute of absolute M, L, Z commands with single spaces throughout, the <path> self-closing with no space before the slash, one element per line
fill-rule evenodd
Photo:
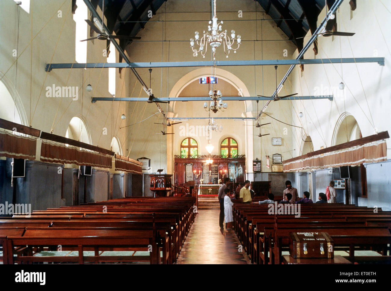
<path fill-rule="evenodd" d="M 247 100 L 268 100 L 273 101 L 270 98 L 267 97 L 260 97 L 260 96 L 248 96 L 248 97 L 242 97 L 242 96 L 222 96 L 222 100 L 224 101 L 247 101 Z M 284 99 L 281 99 L 280 101 L 284 100 L 317 100 L 317 99 L 328 99 L 330 101 L 333 100 L 333 95 L 324 95 L 324 96 L 291 96 Z M 136 98 L 136 97 L 92 97 L 92 103 L 95 103 L 97 101 L 140 101 L 145 102 L 148 101 L 149 98 Z M 208 96 L 199 96 L 199 97 L 164 97 L 164 98 L 153 98 L 154 101 L 157 102 L 175 102 L 175 101 L 182 101 L 182 102 L 188 102 L 188 101 L 212 101 L 212 99 Z M 152 102 L 151 102 L 152 103 Z"/>

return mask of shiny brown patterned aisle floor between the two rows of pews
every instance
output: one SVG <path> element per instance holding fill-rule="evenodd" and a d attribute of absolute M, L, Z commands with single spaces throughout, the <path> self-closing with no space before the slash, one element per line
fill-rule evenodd
<path fill-rule="evenodd" d="M 247 264 L 233 232 L 219 228 L 219 210 L 199 210 L 177 264 Z"/>

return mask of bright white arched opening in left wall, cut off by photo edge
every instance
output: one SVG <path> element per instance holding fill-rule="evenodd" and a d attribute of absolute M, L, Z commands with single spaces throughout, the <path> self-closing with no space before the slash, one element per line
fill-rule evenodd
<path fill-rule="evenodd" d="M 0 73 L 0 118 L 29 126 L 26 112 L 14 84 Z"/>

